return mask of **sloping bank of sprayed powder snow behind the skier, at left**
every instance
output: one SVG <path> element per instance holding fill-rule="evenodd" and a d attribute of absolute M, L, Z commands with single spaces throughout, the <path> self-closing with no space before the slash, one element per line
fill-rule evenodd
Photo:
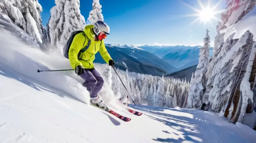
<path fill-rule="evenodd" d="M 7 71 L 12 70 L 33 80 L 50 85 L 69 94 L 78 100 L 88 102 L 89 95 L 78 80 L 74 79 L 71 72 L 37 72 L 39 70 L 67 69 L 70 68 L 65 59 L 58 56 L 49 56 L 40 50 L 22 44 L 16 37 L 1 31 L 0 65 Z M 12 39 L 10 41 L 10 39 Z M 66 74 L 65 74 L 66 73 Z M 15 77 L 12 77 L 15 78 Z M 30 84 L 33 87 L 33 84 Z"/>

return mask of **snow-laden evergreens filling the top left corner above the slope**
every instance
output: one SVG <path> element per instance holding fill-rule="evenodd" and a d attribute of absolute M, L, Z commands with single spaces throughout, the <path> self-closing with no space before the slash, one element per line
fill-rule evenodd
<path fill-rule="evenodd" d="M 1 10 L 12 21 L 30 35 L 40 45 L 42 44 L 42 6 L 38 0 L 2 0 Z"/>

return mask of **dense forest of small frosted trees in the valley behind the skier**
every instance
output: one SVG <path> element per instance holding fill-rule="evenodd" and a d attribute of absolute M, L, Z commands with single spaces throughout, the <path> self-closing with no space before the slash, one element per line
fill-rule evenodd
<path fill-rule="evenodd" d="M 108 67 L 101 67 L 101 65 L 97 63 L 95 66 L 96 68 L 100 66 L 101 69 L 109 67 L 108 65 L 106 65 Z M 136 104 L 172 108 L 177 107 L 180 101 L 185 102 L 187 100 L 189 82 L 182 82 L 172 77 L 159 77 L 128 72 L 128 70 L 122 71 L 116 69 L 116 71 Z M 106 80 L 106 84 L 109 83 L 109 75 L 111 75 L 108 72 L 114 72 L 114 70 L 100 71 L 101 75 Z M 124 102 L 126 104 L 125 99 L 128 97 L 128 103 L 133 104 L 130 95 L 128 95 L 116 73 L 113 73 L 111 77 L 112 85 L 109 85 L 109 87 L 112 88 L 117 99 L 119 99 L 122 104 Z M 180 101 L 178 99 L 180 99 Z M 180 103 L 182 108 L 184 108 L 183 104 L 184 103 Z"/>

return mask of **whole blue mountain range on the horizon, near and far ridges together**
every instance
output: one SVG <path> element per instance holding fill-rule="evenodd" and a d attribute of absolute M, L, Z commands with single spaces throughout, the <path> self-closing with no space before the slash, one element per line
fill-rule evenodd
<path fill-rule="evenodd" d="M 170 75 L 198 64 L 199 50 L 202 46 L 133 46 L 105 44 L 109 54 L 116 62 L 116 67 L 130 72 L 151 75 Z M 210 56 L 212 47 L 210 48 Z M 99 53 L 94 60 L 104 64 Z M 195 68 L 189 70 L 189 76 Z M 190 73 L 191 72 L 191 73 Z"/>

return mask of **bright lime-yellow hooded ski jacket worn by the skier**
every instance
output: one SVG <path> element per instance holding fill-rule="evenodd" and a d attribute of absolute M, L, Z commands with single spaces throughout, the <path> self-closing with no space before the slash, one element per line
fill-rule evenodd
<path fill-rule="evenodd" d="M 93 31 L 93 25 L 87 25 L 84 28 L 84 34 L 79 33 L 76 34 L 74 37 L 70 48 L 68 52 L 68 58 L 71 64 L 72 68 L 76 68 L 78 65 L 83 66 L 85 69 L 93 69 L 94 64 L 93 61 L 95 59 L 95 54 L 99 51 L 100 55 L 102 58 L 105 60 L 105 62 L 108 64 L 109 60 L 112 59 L 110 55 L 108 54 L 108 51 L 105 47 L 104 41 L 94 41 L 94 33 Z M 87 43 L 88 43 L 88 38 L 91 39 L 91 43 L 89 48 L 84 52 L 81 53 L 79 56 L 79 59 L 77 58 L 78 52 L 80 49 L 83 49 Z"/>

